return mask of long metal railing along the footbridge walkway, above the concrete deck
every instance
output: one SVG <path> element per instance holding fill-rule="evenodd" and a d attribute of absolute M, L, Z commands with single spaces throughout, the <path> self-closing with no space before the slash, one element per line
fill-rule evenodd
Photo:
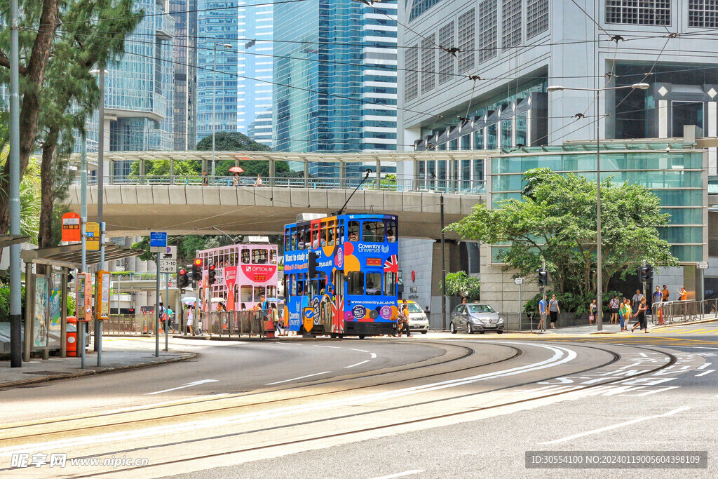
<path fill-rule="evenodd" d="M 220 187 L 284 187 L 313 189 L 348 189 L 360 187 L 361 190 L 379 191 L 419 191 L 478 194 L 486 191 L 484 180 L 398 180 L 393 178 L 370 178 L 360 186 L 361 177 L 263 177 L 257 182 L 254 177 L 215 176 L 206 179 L 206 185 Z M 88 180 L 88 184 L 97 183 L 96 178 Z M 179 185 L 205 186 L 205 178 L 199 175 L 115 175 L 108 177 L 110 185 Z"/>

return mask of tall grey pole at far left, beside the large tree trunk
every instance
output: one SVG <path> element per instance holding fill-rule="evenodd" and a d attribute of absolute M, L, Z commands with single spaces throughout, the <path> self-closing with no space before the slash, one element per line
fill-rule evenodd
<path fill-rule="evenodd" d="M 10 0 L 10 234 L 20 234 L 20 47 L 17 0 Z M 20 245 L 10 245 L 10 367 L 22 367 Z M 28 358 L 29 360 L 29 358 Z"/>

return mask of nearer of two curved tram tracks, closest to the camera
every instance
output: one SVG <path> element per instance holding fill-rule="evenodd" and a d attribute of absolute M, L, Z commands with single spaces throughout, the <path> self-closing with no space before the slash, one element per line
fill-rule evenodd
<path fill-rule="evenodd" d="M 495 345 L 496 343 L 490 343 L 490 344 Z M 500 343 L 498 343 L 498 344 L 500 344 Z M 581 345 L 575 345 L 575 346 L 577 346 L 577 347 L 579 347 L 579 348 L 587 348 L 587 349 L 599 350 L 599 351 L 602 351 L 602 352 L 604 352 L 604 353 L 608 353 L 609 355 L 611 355 L 611 358 L 610 358 L 610 361 L 604 361 L 604 362 L 602 362 L 602 363 L 599 364 L 599 365 L 595 365 L 595 366 L 592 366 L 592 367 L 590 367 L 590 368 L 583 368 L 583 369 L 578 370 L 578 371 L 572 371 L 572 372 L 571 372 L 572 375 L 574 375 L 574 374 L 587 373 L 587 372 L 589 372 L 589 371 L 594 371 L 594 370 L 599 369 L 599 368 L 605 368 L 606 366 L 610 366 L 610 364 L 615 363 L 616 361 L 620 361 L 620 359 L 621 359 L 620 354 L 616 353 L 615 351 L 608 350 L 608 349 L 606 349 L 606 348 L 600 348 L 600 347 L 597 347 L 597 346 L 589 346 L 589 345 L 583 345 L 583 344 L 581 344 Z M 643 349 L 643 350 L 646 350 L 646 351 L 651 351 L 651 352 L 653 352 L 653 353 L 658 353 L 658 354 L 661 354 L 661 355 L 665 355 L 666 358 L 667 358 L 667 361 L 666 361 L 666 363 L 663 363 L 661 366 L 658 366 L 658 367 L 656 367 L 656 368 L 651 368 L 650 370 L 643 371 L 642 373 L 638 373 L 638 374 L 636 374 L 635 376 L 632 376 L 632 378 L 637 378 L 637 377 L 639 377 L 639 376 L 646 376 L 646 375 L 650 375 L 650 374 L 656 373 L 657 371 L 661 371 L 661 370 L 664 369 L 664 368 L 668 368 L 668 367 L 672 366 L 672 365 L 673 365 L 674 363 L 676 363 L 676 361 L 677 361 L 676 356 L 675 356 L 675 355 L 672 355 L 672 354 L 670 354 L 670 353 L 666 353 L 666 352 L 663 352 L 663 351 L 660 351 L 660 350 L 654 350 L 654 349 L 652 349 L 652 348 L 639 348 L 639 349 Z M 513 356 L 513 357 L 516 358 L 516 355 Z M 506 360 L 503 360 L 503 361 L 506 361 Z M 499 362 L 503 362 L 503 361 L 499 361 Z M 446 373 L 442 373 L 442 374 L 446 374 Z M 432 374 L 432 375 L 429 375 L 429 376 L 435 376 L 435 375 Z M 411 404 L 411 406 L 414 407 L 414 406 L 422 406 L 422 405 L 424 405 L 424 404 L 437 404 L 438 402 L 441 402 L 441 401 L 449 401 L 449 400 L 456 400 L 456 399 L 465 399 L 465 398 L 470 398 L 470 397 L 476 397 L 476 396 L 480 396 L 480 395 L 483 395 L 483 394 L 489 394 L 489 393 L 493 393 L 493 392 L 496 392 L 496 391 L 502 391 L 502 390 L 505 390 L 505 389 L 512 389 L 512 388 L 527 386 L 527 385 L 536 383 L 537 381 L 549 381 L 549 380 L 551 380 L 551 379 L 558 378 L 558 377 L 561 377 L 561 376 L 566 376 L 566 373 L 564 372 L 564 373 L 561 373 L 561 374 L 556 375 L 556 376 L 551 376 L 551 377 L 547 377 L 547 378 L 535 379 L 535 380 L 533 380 L 533 381 L 526 381 L 526 382 L 523 382 L 523 383 L 512 384 L 512 385 L 510 385 L 510 386 L 503 386 L 503 387 L 499 387 L 499 388 L 493 388 L 493 389 L 489 389 L 489 390 L 485 390 L 485 391 L 479 391 L 479 392 L 475 392 L 475 393 L 464 394 L 464 395 L 461 395 L 461 396 L 451 396 L 451 397 L 449 397 L 449 398 L 444 398 L 444 399 L 435 399 L 435 400 L 432 400 L 432 401 L 422 401 L 422 402 L 419 402 L 419 403 L 416 403 L 416 404 Z M 416 378 L 414 378 L 414 379 L 416 379 Z M 447 414 L 436 414 L 436 415 L 433 415 L 433 416 L 431 416 L 431 417 L 424 417 L 424 418 L 419 418 L 419 419 L 412 419 L 412 420 L 408 420 L 408 421 L 391 422 L 391 423 L 389 423 L 389 424 L 380 424 L 380 425 L 377 425 L 377 426 L 374 426 L 374 427 L 366 427 L 366 428 L 362 428 L 362 429 L 354 429 L 354 430 L 345 431 L 345 432 L 336 432 L 336 433 L 332 433 L 332 434 L 322 434 L 322 435 L 318 435 L 318 436 L 314 436 L 314 437 L 302 438 L 302 439 L 299 439 L 299 440 L 276 442 L 276 443 L 272 443 L 272 444 L 269 444 L 269 445 L 262 445 L 262 446 L 257 446 L 257 447 L 244 447 L 244 448 L 238 448 L 238 449 L 230 450 L 230 451 L 217 452 L 217 453 L 213 453 L 213 454 L 209 454 L 209 455 L 198 455 L 198 456 L 196 456 L 196 457 L 180 458 L 180 459 L 177 459 L 177 460 L 169 460 L 169 461 L 154 463 L 154 464 L 149 465 L 149 466 L 146 466 L 146 467 L 157 467 L 157 466 L 162 466 L 162 465 L 179 464 L 179 463 L 182 463 L 182 462 L 189 462 L 189 461 L 193 461 L 193 460 L 202 460 L 202 459 L 208 459 L 208 458 L 212 458 L 212 457 L 221 457 L 221 456 L 223 456 L 223 455 L 230 455 L 230 454 L 236 454 L 236 453 L 242 453 L 242 452 L 253 452 L 253 451 L 258 451 L 258 450 L 270 449 L 270 448 L 272 448 L 272 447 L 282 447 L 282 446 L 289 446 L 289 445 L 297 445 L 297 444 L 301 444 L 302 442 L 312 442 L 312 441 L 317 441 L 317 440 L 325 440 L 325 439 L 331 439 L 331 438 L 336 438 L 336 437 L 348 436 L 348 435 L 351 435 L 351 434 L 361 434 L 361 433 L 363 433 L 363 432 L 372 432 L 372 431 L 377 431 L 377 430 L 381 430 L 381 429 L 389 429 L 389 428 L 392 428 L 392 427 L 401 427 L 401 426 L 405 426 L 405 425 L 409 425 L 409 424 L 417 424 L 417 423 L 421 423 L 421 422 L 434 421 L 434 420 L 437 420 L 437 419 L 445 419 L 445 418 L 449 418 L 449 417 L 460 417 L 460 416 L 463 415 L 463 414 L 471 414 L 471 413 L 475 413 L 475 412 L 477 412 L 477 411 L 482 411 L 482 410 L 487 410 L 487 409 L 497 409 L 497 408 L 500 408 L 500 407 L 511 406 L 511 405 L 514 405 L 514 404 L 522 404 L 522 403 L 527 403 L 527 402 L 531 402 L 531 401 L 539 401 L 539 400 L 541 400 L 541 399 L 551 398 L 551 397 L 554 397 L 554 396 L 561 396 L 561 395 L 572 394 L 572 393 L 575 393 L 575 392 L 577 392 L 577 391 L 584 391 L 584 390 L 589 390 L 589 389 L 595 389 L 595 388 L 598 388 L 598 387 L 601 387 L 601 386 L 606 386 L 607 384 L 616 383 L 616 382 L 618 382 L 618 381 L 623 381 L 623 379 L 625 379 L 625 378 L 607 379 L 606 381 L 601 381 L 601 382 L 599 382 L 599 383 L 593 383 L 593 384 L 590 384 L 590 385 L 587 385 L 587 386 L 577 386 L 576 388 L 574 388 L 574 389 L 569 389 L 569 390 L 567 390 L 567 391 L 557 391 L 557 392 L 553 392 L 553 393 L 551 393 L 551 394 L 542 394 L 542 395 L 540 395 L 540 396 L 536 396 L 536 397 L 532 397 L 532 398 L 517 399 L 516 401 L 504 401 L 504 402 L 502 402 L 501 404 L 492 404 L 492 405 L 490 405 L 490 406 L 480 406 L 480 407 L 471 408 L 471 409 L 466 410 L 466 411 L 454 411 L 454 412 L 449 412 L 449 413 L 447 413 Z M 394 381 L 394 382 L 402 382 L 402 381 Z M 376 386 L 376 385 L 374 385 L 374 386 Z M 336 392 L 336 391 L 333 391 L 333 392 Z M 308 426 L 320 424 L 321 422 L 329 422 L 329 421 L 337 421 L 337 420 L 341 421 L 341 420 L 344 420 L 344 419 L 356 419 L 357 417 L 362 417 L 362 416 L 365 416 L 365 415 L 368 415 L 368 414 L 380 414 L 380 413 L 386 412 L 386 411 L 396 411 L 396 410 L 398 410 L 398 409 L 402 409 L 403 407 L 406 407 L 406 406 L 392 406 L 392 407 L 383 408 L 383 409 L 376 409 L 376 410 L 372 410 L 372 411 L 358 412 L 358 413 L 355 413 L 355 414 L 348 414 L 348 415 L 341 416 L 341 417 L 329 417 L 329 418 L 322 418 L 322 419 L 314 419 L 314 420 L 307 421 L 307 422 L 284 424 L 284 425 L 279 425 L 279 426 L 275 426 L 275 427 L 269 427 L 269 428 L 265 427 L 265 428 L 261 428 L 261 429 L 252 429 L 252 430 L 242 431 L 242 432 L 233 432 L 233 433 L 228 433 L 228 434 L 220 434 L 220 435 L 215 435 L 215 436 L 211 436 L 211 437 L 200 437 L 200 438 L 192 439 L 192 440 L 175 441 L 175 442 L 165 442 L 165 443 L 157 444 L 157 445 L 148 445 L 148 446 L 144 446 L 144 447 L 136 447 L 136 448 L 123 449 L 123 450 L 114 450 L 114 451 L 111 451 L 111 452 L 101 452 L 101 453 L 92 454 L 92 455 L 80 456 L 80 457 L 78 457 L 78 459 L 86 459 L 86 458 L 92 458 L 92 457 L 106 457 L 106 456 L 109 456 L 109 455 L 118 456 L 118 455 L 128 454 L 128 453 L 131 453 L 131 452 L 138 452 L 138 451 L 142 451 L 142 450 L 152 450 L 152 449 L 159 449 L 159 448 L 162 448 L 162 447 L 172 447 L 172 446 L 178 446 L 178 445 L 187 446 L 187 445 L 190 445 L 190 444 L 193 444 L 193 443 L 197 443 L 197 442 L 205 442 L 205 441 L 211 441 L 211 440 L 228 439 L 228 438 L 233 438 L 233 437 L 236 438 L 236 437 L 243 436 L 243 435 L 246 435 L 246 434 L 254 434 L 254 433 L 258 433 L 258 432 L 269 432 L 269 431 L 276 430 L 276 429 L 285 429 L 285 428 L 290 428 L 290 427 L 308 427 Z M 108 471 L 108 472 L 122 472 L 122 471 L 129 471 L 129 470 L 141 470 L 141 469 L 144 469 L 144 468 L 145 468 L 144 466 L 136 466 L 136 467 L 132 467 L 132 468 L 124 468 L 124 469 L 121 469 L 121 470 Z M 6 470 L 9 470 L 9 469 L 0 469 L 0 472 L 4 472 L 4 471 L 6 471 Z M 94 475 L 94 474 L 93 474 L 93 475 Z M 75 477 L 90 477 L 90 476 L 91 476 L 91 475 L 79 475 L 79 476 L 75 476 Z"/>

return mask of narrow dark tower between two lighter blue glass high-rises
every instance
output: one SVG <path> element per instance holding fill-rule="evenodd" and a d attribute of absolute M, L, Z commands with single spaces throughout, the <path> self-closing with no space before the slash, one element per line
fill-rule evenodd
<path fill-rule="evenodd" d="M 197 145 L 197 0 L 169 0 L 174 19 L 175 150 Z"/>

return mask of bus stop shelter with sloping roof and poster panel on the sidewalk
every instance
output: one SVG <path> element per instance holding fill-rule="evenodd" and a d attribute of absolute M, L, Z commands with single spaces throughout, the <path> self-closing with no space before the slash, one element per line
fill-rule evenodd
<path fill-rule="evenodd" d="M 33 350 L 42 350 L 47 359 L 50 350 L 67 355 L 67 279 L 71 269 L 82 268 L 82 243 L 22 251 L 25 263 L 25 329 L 23 361 Z M 105 243 L 105 261 L 139 256 L 144 250 Z M 100 251 L 86 251 L 85 264 L 100 262 Z M 46 274 L 36 274 L 33 265 L 47 266 Z"/>

